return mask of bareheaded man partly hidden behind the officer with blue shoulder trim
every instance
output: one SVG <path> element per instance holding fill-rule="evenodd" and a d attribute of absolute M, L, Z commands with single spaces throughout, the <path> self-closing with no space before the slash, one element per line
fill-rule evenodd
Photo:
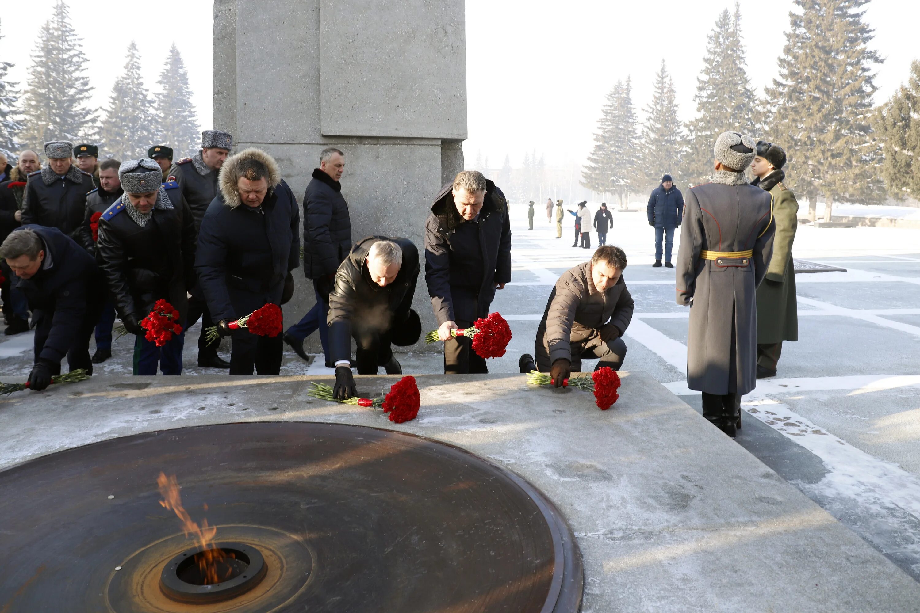
<path fill-rule="evenodd" d="M 116 200 L 121 198 L 121 181 L 118 169 L 121 162 L 118 160 L 103 160 L 99 165 L 99 187 L 86 194 L 86 211 L 83 214 L 83 225 L 80 226 L 80 242 L 86 251 L 96 257 L 99 218 Z M 95 217 L 95 219 L 94 219 Z M 102 306 L 99 322 L 96 324 L 96 353 L 93 354 L 93 364 L 101 364 L 112 357 L 112 326 L 115 324 L 115 301 L 109 300 Z"/>

